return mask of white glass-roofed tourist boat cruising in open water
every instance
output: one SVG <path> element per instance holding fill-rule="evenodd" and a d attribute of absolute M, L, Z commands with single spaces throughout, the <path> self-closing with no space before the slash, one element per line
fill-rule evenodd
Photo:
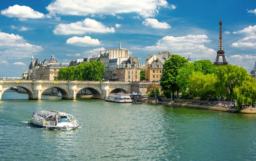
<path fill-rule="evenodd" d="M 77 128 L 79 126 L 78 121 L 71 114 L 51 110 L 33 113 L 28 123 L 46 128 Z"/>

